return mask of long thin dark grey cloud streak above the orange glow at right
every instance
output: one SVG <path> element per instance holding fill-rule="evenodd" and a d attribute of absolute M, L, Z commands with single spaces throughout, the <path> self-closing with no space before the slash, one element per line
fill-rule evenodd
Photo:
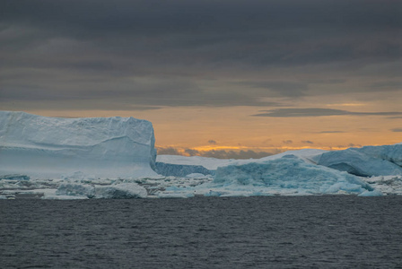
<path fill-rule="evenodd" d="M 402 112 L 353 112 L 331 108 L 277 108 L 267 110 L 267 113 L 252 115 L 254 117 L 324 117 L 324 116 L 392 116 L 402 115 Z"/>

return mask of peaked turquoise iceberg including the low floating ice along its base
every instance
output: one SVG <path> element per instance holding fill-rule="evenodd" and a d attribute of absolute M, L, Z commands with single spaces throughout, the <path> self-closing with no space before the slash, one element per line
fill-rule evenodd
<path fill-rule="evenodd" d="M 359 195 L 372 190 L 369 184 L 346 172 L 284 155 L 273 160 L 220 167 L 214 181 L 197 187 L 182 187 L 176 193 L 208 196 Z"/>

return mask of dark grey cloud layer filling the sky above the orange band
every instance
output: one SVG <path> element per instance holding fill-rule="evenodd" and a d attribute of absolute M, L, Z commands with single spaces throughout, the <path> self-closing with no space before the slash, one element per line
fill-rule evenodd
<path fill-rule="evenodd" d="M 340 85 L 330 92 L 400 86 L 384 79 L 398 75 L 402 57 L 400 1 L 0 4 L 3 102 L 83 107 L 76 100 L 87 100 L 85 108 L 110 103 L 117 109 L 119 103 L 268 106 L 273 103 L 261 98 L 297 99 L 310 94 L 311 84 L 347 83 L 357 74 L 380 80 L 368 80 L 364 90 Z"/>

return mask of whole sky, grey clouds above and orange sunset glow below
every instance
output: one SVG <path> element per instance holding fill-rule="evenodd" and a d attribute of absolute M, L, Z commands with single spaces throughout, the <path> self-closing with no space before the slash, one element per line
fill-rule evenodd
<path fill-rule="evenodd" d="M 402 142 L 402 1 L 0 6 L 1 110 L 144 118 L 160 154 Z"/>

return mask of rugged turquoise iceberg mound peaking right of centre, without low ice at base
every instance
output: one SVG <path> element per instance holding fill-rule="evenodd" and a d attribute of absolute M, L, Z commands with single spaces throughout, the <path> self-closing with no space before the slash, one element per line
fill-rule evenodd
<path fill-rule="evenodd" d="M 301 160 L 294 155 L 280 159 L 229 165 L 216 170 L 213 184 L 223 187 L 267 187 L 306 194 L 361 194 L 373 189 L 360 178 Z"/>

